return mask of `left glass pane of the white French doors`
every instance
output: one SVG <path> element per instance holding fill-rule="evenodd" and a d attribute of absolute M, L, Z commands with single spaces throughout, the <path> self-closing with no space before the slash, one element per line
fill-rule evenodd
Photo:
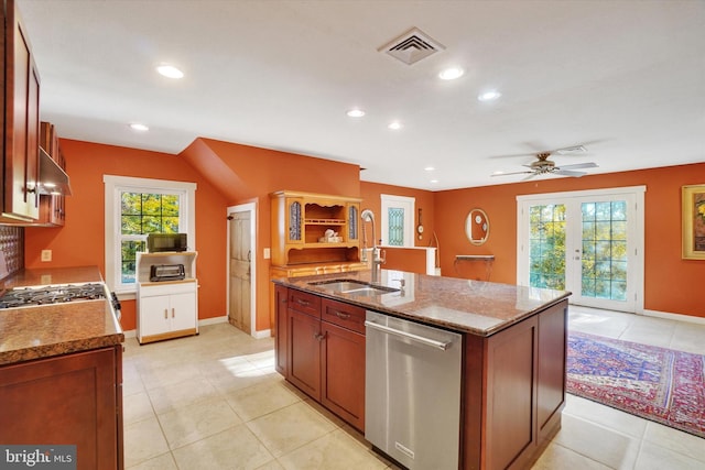
<path fill-rule="evenodd" d="M 565 206 L 529 208 L 529 285 L 565 288 Z"/>

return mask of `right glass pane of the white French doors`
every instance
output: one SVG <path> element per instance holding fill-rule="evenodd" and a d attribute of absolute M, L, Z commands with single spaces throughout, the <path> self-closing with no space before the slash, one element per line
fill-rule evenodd
<path fill-rule="evenodd" d="M 583 203 L 584 297 L 627 299 L 627 203 Z"/>

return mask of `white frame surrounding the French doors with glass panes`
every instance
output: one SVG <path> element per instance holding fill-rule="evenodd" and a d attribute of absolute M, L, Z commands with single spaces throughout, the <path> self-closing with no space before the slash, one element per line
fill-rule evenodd
<path fill-rule="evenodd" d="M 644 250 L 644 193 L 646 186 L 627 186 L 605 189 L 586 189 L 575 192 L 563 193 L 544 193 L 517 196 L 517 284 L 529 284 L 529 256 L 527 250 L 529 247 L 525 241 L 529 239 L 529 227 L 524 223 L 524 216 L 522 209 L 527 203 L 551 201 L 551 204 L 563 203 L 565 199 L 577 199 L 583 197 L 600 196 L 616 196 L 616 195 L 630 195 L 636 199 L 636 220 L 630 221 L 634 223 L 634 240 L 629 240 L 629 245 L 633 249 L 630 253 L 629 267 L 629 282 L 633 282 L 634 285 L 634 313 L 643 314 L 643 296 L 644 296 L 644 264 L 643 264 L 643 250 Z M 567 249 L 567 247 L 566 247 Z M 566 270 L 566 276 L 568 275 Z"/>

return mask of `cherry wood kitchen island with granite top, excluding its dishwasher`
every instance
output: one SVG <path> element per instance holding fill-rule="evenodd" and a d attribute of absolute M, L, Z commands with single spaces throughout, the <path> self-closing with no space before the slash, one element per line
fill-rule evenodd
<path fill-rule="evenodd" d="M 458 332 L 458 467 L 530 466 L 561 427 L 570 293 L 384 270 L 371 281 L 273 280 L 280 373 L 365 431 L 366 310 Z"/>

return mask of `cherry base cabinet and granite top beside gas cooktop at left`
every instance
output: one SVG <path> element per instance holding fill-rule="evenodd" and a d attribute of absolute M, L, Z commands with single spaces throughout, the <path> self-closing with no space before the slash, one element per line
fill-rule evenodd
<path fill-rule="evenodd" d="M 23 270 L 1 285 L 83 283 L 102 283 L 98 267 Z M 122 468 L 123 341 L 109 298 L 0 308 L 0 444 L 70 445 L 78 469 Z"/>

